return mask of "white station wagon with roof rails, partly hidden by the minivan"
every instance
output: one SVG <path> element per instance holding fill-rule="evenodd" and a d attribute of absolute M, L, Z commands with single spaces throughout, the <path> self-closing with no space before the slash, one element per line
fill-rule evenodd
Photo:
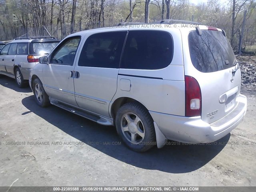
<path fill-rule="evenodd" d="M 0 52 L 0 74 L 15 78 L 20 88 L 26 86 L 40 56 L 49 54 L 59 42 L 50 36 L 16 38 Z"/>

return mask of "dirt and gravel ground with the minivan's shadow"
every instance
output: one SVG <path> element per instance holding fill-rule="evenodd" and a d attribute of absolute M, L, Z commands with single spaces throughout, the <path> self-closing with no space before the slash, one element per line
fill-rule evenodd
<path fill-rule="evenodd" d="M 0 186 L 256 186 L 256 91 L 244 94 L 244 120 L 217 143 L 170 142 L 140 154 L 114 127 L 40 108 L 30 88 L 2 77 Z"/>

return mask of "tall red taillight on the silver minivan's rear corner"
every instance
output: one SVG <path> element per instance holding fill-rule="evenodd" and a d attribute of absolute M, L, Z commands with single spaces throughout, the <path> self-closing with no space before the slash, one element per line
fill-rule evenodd
<path fill-rule="evenodd" d="M 201 89 L 197 80 L 190 76 L 185 76 L 185 116 L 200 116 L 202 111 Z"/>

